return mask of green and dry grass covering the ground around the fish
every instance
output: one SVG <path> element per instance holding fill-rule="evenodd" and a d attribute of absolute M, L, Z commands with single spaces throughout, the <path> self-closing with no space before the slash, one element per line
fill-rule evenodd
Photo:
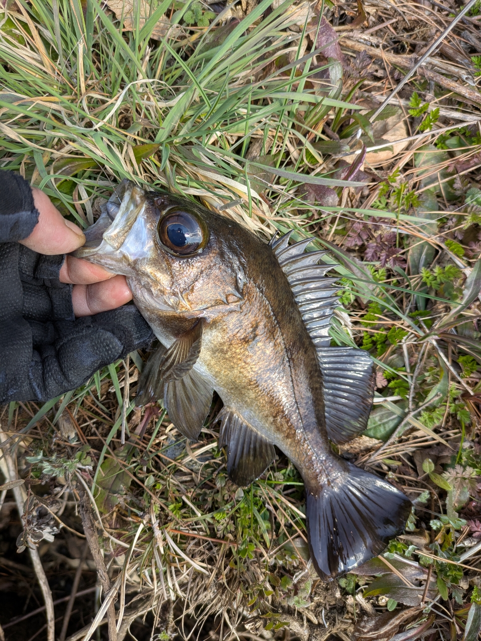
<path fill-rule="evenodd" d="M 84 227 L 95 200 L 130 178 L 222 208 L 264 238 L 293 229 L 295 240 L 328 248 L 343 302 L 332 344 L 368 349 L 377 363 L 368 430 L 342 452 L 414 501 L 404 536 L 380 566 L 320 584 L 308 561 L 297 470 L 281 456 L 250 488 L 235 487 L 217 447 L 220 401 L 198 444 L 175 431 L 160 403 L 147 417 L 134 408 L 128 390 L 145 354 L 41 407 L 10 404 L 3 430 L 37 494 L 47 480 L 49 492 L 60 488 L 57 522 L 81 531 L 77 493 L 92 495 L 124 612 L 120 637 L 150 611 L 152 635 L 160 635 L 153 638 L 207 638 L 204 621 L 215 621 L 214 641 L 242 635 L 243 625 L 251 635 L 286 638 L 289 629 L 306 641 L 321 626 L 322 638 L 348 638 L 358 626 L 362 638 L 361 614 L 413 608 L 412 628 L 430 629 L 428 638 L 455 638 L 463 626 L 466 640 L 475 638 L 481 140 L 459 119 L 436 122 L 434 105 L 456 115 L 459 104 L 436 89 L 430 111 L 423 108 L 430 88 L 418 77 L 410 83 L 416 96 L 400 103 L 411 142 L 376 163 L 370 148 L 386 146 L 375 129 L 382 117 L 372 124 L 366 108 L 359 113 L 366 96 L 386 92 L 371 61 L 353 54 L 343 68 L 323 63 L 330 31 L 307 22 L 302 5 L 269 6 L 263 0 L 241 22 L 226 22 L 226 9 L 208 27 L 190 28 L 189 4 L 165 0 L 152 4 L 147 21 L 137 5 L 122 29 L 95 0 L 17 4 L 0 25 L 0 167 L 19 171 Z M 174 10 L 181 28 L 152 40 Z M 336 22 L 329 8 L 325 15 Z M 402 19 L 398 26 L 406 29 Z M 477 106 L 468 111 L 479 115 Z M 353 138 L 359 127 L 367 160 Z M 342 165 L 348 149 L 358 152 L 348 157 L 350 174 Z M 61 536 L 42 543 L 45 558 L 59 562 Z M 49 581 L 56 586 L 51 574 Z M 406 581 L 420 594 L 412 597 Z M 129 604 L 140 587 L 147 601 Z M 94 606 L 97 628 L 108 599 Z M 393 635 L 405 623 L 395 625 Z"/>

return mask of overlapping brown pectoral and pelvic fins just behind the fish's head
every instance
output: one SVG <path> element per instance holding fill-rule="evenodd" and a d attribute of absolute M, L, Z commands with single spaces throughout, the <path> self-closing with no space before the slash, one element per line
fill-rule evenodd
<path fill-rule="evenodd" d="M 175 428 L 196 440 L 209 413 L 213 387 L 193 370 L 202 346 L 203 321 L 177 338 L 168 349 L 159 345 L 146 363 L 138 383 L 136 405 L 163 397 Z"/>

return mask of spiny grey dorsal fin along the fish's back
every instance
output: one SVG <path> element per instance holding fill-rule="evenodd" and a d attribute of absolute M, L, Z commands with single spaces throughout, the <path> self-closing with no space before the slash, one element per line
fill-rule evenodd
<path fill-rule="evenodd" d="M 335 265 L 318 265 L 325 251 L 304 253 L 310 238 L 289 245 L 291 232 L 271 244 L 291 286 L 322 372 L 329 438 L 345 443 L 366 429 L 374 395 L 374 363 L 354 347 L 330 347 L 329 326 L 339 305 L 338 280 L 325 276 Z"/>

